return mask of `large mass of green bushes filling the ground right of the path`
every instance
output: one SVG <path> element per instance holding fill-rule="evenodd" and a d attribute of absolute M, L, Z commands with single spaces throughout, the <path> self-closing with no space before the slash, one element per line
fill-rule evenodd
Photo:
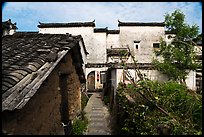
<path fill-rule="evenodd" d="M 137 84 L 138 87 L 125 84 L 118 87 L 120 134 L 156 135 L 160 124 L 170 126 L 173 135 L 202 134 L 202 102 L 190 94 L 186 86 L 173 81 L 147 81 L 155 102 L 165 108 L 176 119 L 174 121 L 138 94 L 146 94 L 142 87 L 144 81 Z M 130 103 L 122 93 L 131 95 L 135 103 Z"/>

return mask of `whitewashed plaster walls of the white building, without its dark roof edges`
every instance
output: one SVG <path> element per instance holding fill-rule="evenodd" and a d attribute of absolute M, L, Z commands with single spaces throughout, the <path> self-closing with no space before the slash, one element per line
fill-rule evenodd
<path fill-rule="evenodd" d="M 171 41 L 165 35 L 164 27 L 162 26 L 120 26 L 119 34 L 108 34 L 104 32 L 94 33 L 94 27 L 63 27 L 63 28 L 39 28 L 39 33 L 51 34 L 66 34 L 81 35 L 83 37 L 85 46 L 89 54 L 87 55 L 87 63 L 106 63 L 106 49 L 112 48 L 126 48 L 129 45 L 131 51 L 138 63 L 151 63 L 154 57 L 153 43 L 159 43 L 160 38 Z M 134 47 L 134 41 L 140 41 L 138 50 Z M 127 62 L 132 62 L 129 59 Z M 105 70 L 107 68 L 104 68 Z M 104 69 L 86 68 L 86 76 L 90 71 L 96 72 L 104 71 Z M 117 73 L 116 73 L 117 72 Z M 119 71 L 116 71 L 116 83 L 119 81 Z M 156 70 L 147 72 L 149 78 L 152 80 L 159 80 L 166 78 Z M 195 89 L 195 73 L 190 72 L 186 83 L 189 88 Z M 97 88 L 97 83 L 96 83 Z"/>

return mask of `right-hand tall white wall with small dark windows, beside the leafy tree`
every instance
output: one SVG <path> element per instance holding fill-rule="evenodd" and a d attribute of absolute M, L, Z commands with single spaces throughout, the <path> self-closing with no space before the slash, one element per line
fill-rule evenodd
<path fill-rule="evenodd" d="M 120 46 L 129 45 L 138 63 L 149 63 L 153 58 L 153 43 L 159 43 L 160 38 L 165 38 L 164 27 L 152 26 L 120 26 Z M 136 51 L 134 41 L 140 41 Z"/>

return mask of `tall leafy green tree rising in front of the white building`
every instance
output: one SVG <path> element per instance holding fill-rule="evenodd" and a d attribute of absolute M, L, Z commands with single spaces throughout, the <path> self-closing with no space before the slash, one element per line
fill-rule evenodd
<path fill-rule="evenodd" d="M 195 43 L 192 41 L 198 36 L 199 27 L 186 24 L 185 15 L 180 10 L 165 15 L 165 26 L 175 36 L 171 43 L 166 43 L 161 38 L 160 50 L 155 51 L 155 55 L 163 57 L 163 60 L 153 59 L 153 64 L 170 79 L 185 84 L 190 70 L 196 70 L 199 66 L 194 51 Z"/>

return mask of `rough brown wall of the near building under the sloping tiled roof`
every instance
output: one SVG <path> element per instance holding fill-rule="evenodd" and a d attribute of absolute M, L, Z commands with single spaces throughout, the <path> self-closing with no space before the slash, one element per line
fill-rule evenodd
<path fill-rule="evenodd" d="M 60 62 L 44 81 L 36 94 L 20 110 L 2 112 L 2 130 L 14 135 L 51 135 L 64 134 L 61 124 L 61 100 L 59 72 L 73 72 L 68 76 L 68 103 L 70 118 L 73 119 L 81 110 L 80 82 L 72 65 L 71 55 Z"/>

